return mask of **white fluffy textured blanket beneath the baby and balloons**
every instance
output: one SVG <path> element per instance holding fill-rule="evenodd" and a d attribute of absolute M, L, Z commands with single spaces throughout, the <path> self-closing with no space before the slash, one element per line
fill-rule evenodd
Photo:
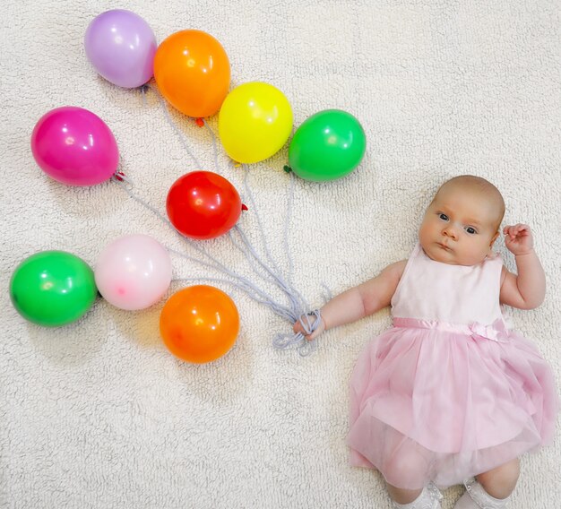
<path fill-rule="evenodd" d="M 295 127 L 325 108 L 357 116 L 367 134 L 360 167 L 328 183 L 295 182 L 289 244 L 295 285 L 312 306 L 406 257 L 427 200 L 446 177 L 476 174 L 502 191 L 506 222 L 531 224 L 548 276 L 546 302 L 513 312 L 561 380 L 561 11 L 551 0 L 428 2 L 285 0 L 142 2 L 8 0 L 0 15 L 2 246 L 0 507 L 389 508 L 383 479 L 350 468 L 347 387 L 359 351 L 387 311 L 324 335 L 309 358 L 272 348 L 282 321 L 229 288 L 241 315 L 228 356 L 191 366 L 168 354 L 159 305 L 126 312 L 99 298 L 79 322 L 47 329 L 10 303 L 15 266 L 63 249 L 94 265 L 125 234 L 182 240 L 114 183 L 58 184 L 32 158 L 30 134 L 52 108 L 88 108 L 117 138 L 134 192 L 165 211 L 169 186 L 194 169 L 153 93 L 120 89 L 88 62 L 83 36 L 112 8 L 138 13 L 158 42 L 199 29 L 225 47 L 232 85 L 263 81 L 289 99 Z M 211 138 L 172 119 L 204 168 Z M 216 131 L 217 117 L 209 119 Z M 219 147 L 220 149 L 220 147 Z M 272 255 L 283 245 L 287 146 L 251 165 L 255 207 L 241 224 Z M 219 151 L 220 172 L 242 169 Z M 245 200 L 247 196 L 243 196 Z M 205 243 L 240 263 L 228 238 Z M 502 241 L 499 250 L 510 257 Z M 173 257 L 174 277 L 211 275 Z M 186 283 L 172 283 L 168 295 Z M 513 507 L 559 505 L 561 441 L 525 457 Z M 461 493 L 445 493 L 451 508 Z"/>

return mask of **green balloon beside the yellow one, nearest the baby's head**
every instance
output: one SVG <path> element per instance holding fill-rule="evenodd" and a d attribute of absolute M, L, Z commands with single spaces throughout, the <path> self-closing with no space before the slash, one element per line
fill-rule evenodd
<path fill-rule="evenodd" d="M 357 118 L 341 109 L 325 109 L 298 127 L 289 146 L 289 165 L 306 180 L 333 180 L 357 168 L 366 148 Z"/>

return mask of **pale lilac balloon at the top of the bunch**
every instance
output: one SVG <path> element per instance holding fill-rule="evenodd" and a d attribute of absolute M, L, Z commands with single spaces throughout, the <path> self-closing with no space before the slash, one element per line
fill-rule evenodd
<path fill-rule="evenodd" d="M 150 25 L 131 11 L 99 14 L 86 30 L 84 46 L 96 71 L 119 87 L 140 87 L 154 73 L 156 37 Z"/>

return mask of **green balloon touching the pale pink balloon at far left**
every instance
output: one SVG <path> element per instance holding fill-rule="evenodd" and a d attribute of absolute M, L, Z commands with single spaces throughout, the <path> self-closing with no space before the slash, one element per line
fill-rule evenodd
<path fill-rule="evenodd" d="M 93 271 L 65 251 L 42 251 L 23 260 L 12 274 L 10 297 L 25 319 L 47 327 L 70 324 L 97 297 Z"/>

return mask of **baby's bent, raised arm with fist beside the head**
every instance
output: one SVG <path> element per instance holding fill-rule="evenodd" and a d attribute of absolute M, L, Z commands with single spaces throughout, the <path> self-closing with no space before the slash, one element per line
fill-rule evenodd
<path fill-rule="evenodd" d="M 534 240 L 528 225 L 506 226 L 505 246 L 514 254 L 518 275 L 503 268 L 500 300 L 519 309 L 533 309 L 546 295 L 546 276 L 534 251 Z"/>

